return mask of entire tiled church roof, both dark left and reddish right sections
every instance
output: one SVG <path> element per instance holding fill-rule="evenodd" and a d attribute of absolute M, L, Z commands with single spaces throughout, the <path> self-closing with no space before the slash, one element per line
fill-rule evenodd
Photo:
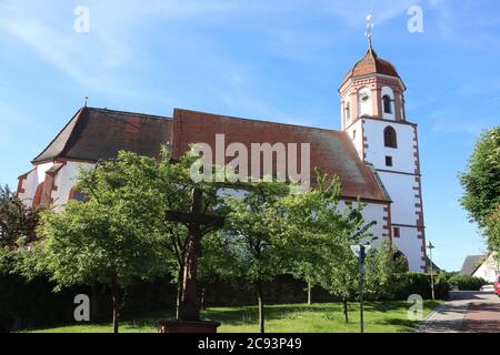
<path fill-rule="evenodd" d="M 33 163 L 56 158 L 107 160 L 114 158 L 120 150 L 159 156 L 161 145 L 167 143 L 172 144 L 172 158 L 179 159 L 193 143 L 216 146 L 217 134 L 226 135 L 226 146 L 238 142 L 249 151 L 252 143 L 297 143 L 298 171 L 301 171 L 300 144 L 310 143 L 311 181 L 314 169 L 319 168 L 322 173 L 339 176 L 343 197 L 390 202 L 377 172 L 362 162 L 344 132 L 180 109 L 176 109 L 173 119 L 170 119 L 82 108 Z M 226 163 L 231 160 L 227 158 Z"/>

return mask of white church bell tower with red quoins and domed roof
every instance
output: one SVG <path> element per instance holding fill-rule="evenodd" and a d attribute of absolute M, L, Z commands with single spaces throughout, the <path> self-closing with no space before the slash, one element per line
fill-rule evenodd
<path fill-rule="evenodd" d="M 359 156 L 372 165 L 392 203 L 390 236 L 410 271 L 426 272 L 426 233 L 417 124 L 407 119 L 406 87 L 394 65 L 377 55 L 371 38 L 364 57 L 339 89 L 341 126 Z"/>

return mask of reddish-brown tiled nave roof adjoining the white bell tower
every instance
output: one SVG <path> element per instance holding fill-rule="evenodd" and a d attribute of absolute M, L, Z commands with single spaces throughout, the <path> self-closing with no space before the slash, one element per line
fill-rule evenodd
<path fill-rule="evenodd" d="M 300 144 L 310 143 L 311 175 L 319 168 L 322 173 L 337 174 L 342 184 L 343 197 L 389 202 L 376 173 L 358 155 L 346 132 L 299 126 L 267 121 L 248 120 L 176 109 L 173 113 L 173 151 L 178 159 L 193 143 L 216 146 L 216 135 L 224 134 L 226 146 L 242 143 L 251 151 L 252 143 L 297 143 L 300 171 Z M 212 152 L 213 158 L 216 152 Z M 226 158 L 229 163 L 233 158 Z M 251 174 L 251 166 L 249 166 Z M 310 176 L 311 181 L 313 176 Z"/>

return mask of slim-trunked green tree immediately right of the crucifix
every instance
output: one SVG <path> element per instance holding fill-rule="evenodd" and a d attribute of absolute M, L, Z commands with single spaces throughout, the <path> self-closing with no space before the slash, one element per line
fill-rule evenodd
<path fill-rule="evenodd" d="M 264 333 L 263 283 L 283 273 L 281 243 L 282 214 L 278 202 L 290 192 L 289 185 L 258 182 L 242 196 L 228 197 L 226 233 L 238 248 L 246 277 L 254 284 L 259 306 L 259 328 Z"/>

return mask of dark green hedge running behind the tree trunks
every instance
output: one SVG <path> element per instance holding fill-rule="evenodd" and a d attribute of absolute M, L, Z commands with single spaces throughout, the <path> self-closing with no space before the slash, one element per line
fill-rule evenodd
<path fill-rule="evenodd" d="M 434 277 L 437 298 L 448 298 L 449 284 L 444 275 Z M 253 285 L 244 280 L 218 282 L 199 285 L 204 288 L 206 306 L 254 305 Z M 16 275 L 0 275 L 0 332 L 19 331 L 41 326 L 73 324 L 73 298 L 77 294 L 92 295 L 91 287 L 73 287 L 53 293 L 54 285 L 39 277 L 32 282 Z M 431 298 L 430 276 L 421 273 L 394 275 L 391 290 L 367 300 L 406 301 L 412 294 Z M 306 283 L 290 275 L 278 276 L 264 287 L 268 304 L 304 303 L 307 301 Z M 109 290 L 98 286 L 94 290 L 92 306 L 93 321 L 109 320 Z M 154 282 L 138 283 L 129 288 L 126 297 L 124 313 L 143 314 L 148 312 L 172 310 L 176 304 L 176 286 L 169 277 Z M 319 286 L 313 288 L 313 302 L 337 302 Z M 98 312 L 93 312 L 93 311 Z"/>

